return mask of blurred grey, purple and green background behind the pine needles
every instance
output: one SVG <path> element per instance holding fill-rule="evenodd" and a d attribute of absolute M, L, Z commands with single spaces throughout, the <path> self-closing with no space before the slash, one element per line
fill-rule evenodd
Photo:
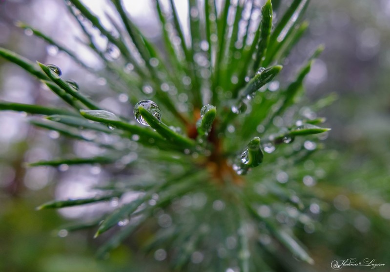
<path fill-rule="evenodd" d="M 159 27 L 150 1 L 125 2 L 147 37 L 159 44 Z M 100 16 L 109 13 L 104 0 L 83 2 Z M 176 2 L 182 18 L 186 18 L 186 1 Z M 326 200 L 317 211 L 318 224 L 297 233 L 316 262 L 301 271 L 330 271 L 332 260 L 347 258 L 375 259 L 386 263 L 375 271 L 390 271 L 390 0 L 312 1 L 306 18 L 309 31 L 294 49 L 292 55 L 296 57 L 286 61 L 284 76 L 293 70 L 288 68 L 289 63 L 299 65 L 308 52 L 323 43 L 326 49 L 306 81 L 308 98 L 315 102 L 331 93 L 338 98 L 318 113 L 332 128 L 325 141 L 332 151 L 321 162 L 324 178 L 313 186 L 313 192 Z M 87 93 L 110 96 L 104 78 L 81 70 L 58 48 L 33 37 L 31 30 L 16 27 L 17 21 L 42 30 L 78 52 L 89 65 L 101 67 L 103 63 L 78 41 L 80 32 L 63 1 L 1 0 L 0 46 L 32 61 L 55 63 L 66 78 L 78 82 Z M 3 59 L 0 100 L 62 105 L 39 81 Z M 125 114 L 130 111 L 126 102 L 126 96 L 119 96 L 102 98 L 100 103 Z M 69 221 L 94 218 L 110 209 L 104 204 L 35 210 L 53 198 L 88 196 L 91 186 L 109 178 L 99 166 L 23 167 L 25 162 L 55 158 L 64 150 L 81 156 L 100 152 L 84 143 L 71 145 L 56 132 L 33 129 L 21 113 L 0 112 L 0 271 L 167 271 L 156 254 L 142 259 L 134 250 L 136 241 L 128 241 L 107 259 L 97 260 L 95 253 L 101 241 L 92 239 L 92 231 L 61 230 L 60 226 Z"/>

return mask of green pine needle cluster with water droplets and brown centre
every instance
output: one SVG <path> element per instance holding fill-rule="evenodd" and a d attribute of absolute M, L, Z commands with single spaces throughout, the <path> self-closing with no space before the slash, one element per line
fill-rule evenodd
<path fill-rule="evenodd" d="M 95 73 L 104 75 L 113 91 L 128 95 L 138 123 L 99 106 L 76 83 L 62 79 L 55 65 L 36 65 L 4 48 L 0 56 L 36 76 L 67 106 L 1 102 L 0 110 L 42 115 L 31 124 L 106 149 L 99 157 L 33 162 L 30 167 L 115 164 L 130 152 L 126 143 L 131 141 L 137 144 L 131 149 L 137 160 L 124 167 L 137 174 L 127 173 L 123 183 L 123 177 L 112 171 L 112 180 L 98 188 L 101 194 L 96 197 L 52 201 L 38 209 L 109 201 L 136 192 L 137 199 L 121 202 L 102 222 L 99 218 L 68 230 L 95 228 L 97 237 L 115 228 L 98 251 L 104 256 L 148 222 L 156 224 L 158 216 L 161 229 L 142 246 L 145 251 L 164 249 L 177 271 L 225 271 L 237 266 L 242 272 L 260 271 L 271 269 L 281 254 L 311 264 L 294 238 L 294 229 L 274 215 L 284 214 L 301 225 L 311 221 L 307 215 L 311 194 L 298 181 L 307 175 L 305 160 L 321 149 L 314 134 L 329 129 L 316 126 L 323 119 L 301 116 L 300 98 L 303 81 L 322 47 L 286 88 L 270 88 L 282 70 L 278 63 L 307 28 L 300 18 L 308 0 L 294 0 L 278 21 L 273 21 L 270 0 L 261 9 L 261 20 L 253 15 L 259 7 L 252 1 L 226 0 L 217 12 L 214 0 L 189 0 L 190 37 L 185 37 L 173 1 L 167 13 L 157 0 L 164 50 L 145 38 L 120 0 L 112 1 L 122 20 L 123 26 L 115 30 L 119 35 L 108 31 L 81 1 L 66 2 L 88 39 L 85 45 L 106 64 L 105 70 Z M 229 21 L 229 16 L 234 20 Z M 106 50 L 95 44 L 88 24 L 106 37 Z M 255 30 L 249 25 L 256 25 Z M 86 73 L 93 71 L 65 45 L 39 30 L 33 29 L 33 34 L 56 45 Z M 119 58 L 111 56 L 113 52 Z M 133 70 L 123 72 L 123 63 Z M 119 136 L 123 145 L 87 138 L 82 131 Z M 261 238 L 265 236 L 267 243 Z M 282 251 L 273 250 L 280 245 Z"/>

